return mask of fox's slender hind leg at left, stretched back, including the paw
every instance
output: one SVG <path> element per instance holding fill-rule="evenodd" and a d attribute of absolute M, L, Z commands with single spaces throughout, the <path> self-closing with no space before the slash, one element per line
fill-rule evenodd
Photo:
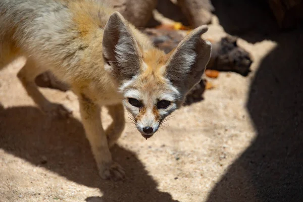
<path fill-rule="evenodd" d="M 46 114 L 52 116 L 67 117 L 71 114 L 71 110 L 63 105 L 49 102 L 44 95 L 38 90 L 35 78 L 44 72 L 42 68 L 37 66 L 33 60 L 27 60 L 24 67 L 19 71 L 18 78 L 26 89 L 28 95 L 34 100 L 35 104 Z"/>

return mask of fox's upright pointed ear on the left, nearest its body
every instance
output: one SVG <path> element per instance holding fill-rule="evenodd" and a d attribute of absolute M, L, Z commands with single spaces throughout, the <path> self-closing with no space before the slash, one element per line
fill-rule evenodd
<path fill-rule="evenodd" d="M 114 12 L 104 28 L 103 57 L 106 69 L 119 81 L 131 79 L 138 73 L 142 54 L 126 20 Z"/>

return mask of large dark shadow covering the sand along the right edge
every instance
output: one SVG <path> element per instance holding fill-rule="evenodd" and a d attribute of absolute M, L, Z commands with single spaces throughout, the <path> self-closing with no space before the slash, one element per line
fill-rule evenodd
<path fill-rule="evenodd" d="M 278 45 L 265 56 L 250 86 L 247 110 L 257 137 L 208 202 L 303 201 L 303 30 L 265 38 Z"/>

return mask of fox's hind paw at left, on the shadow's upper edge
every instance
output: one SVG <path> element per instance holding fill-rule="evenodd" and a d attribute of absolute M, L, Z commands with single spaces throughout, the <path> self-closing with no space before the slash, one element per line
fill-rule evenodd
<path fill-rule="evenodd" d="M 54 118 L 68 118 L 73 113 L 73 111 L 68 109 L 67 107 L 55 103 L 47 105 L 47 107 L 43 108 L 42 111 L 45 114 L 52 116 Z"/>

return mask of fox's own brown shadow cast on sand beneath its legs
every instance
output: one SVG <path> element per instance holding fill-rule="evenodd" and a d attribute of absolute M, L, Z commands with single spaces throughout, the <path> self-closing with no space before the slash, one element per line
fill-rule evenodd
<path fill-rule="evenodd" d="M 0 108 L 0 147 L 31 164 L 67 179 L 97 187 L 102 197 L 87 201 L 176 201 L 157 189 L 132 151 L 114 146 L 113 158 L 125 169 L 124 182 L 102 180 L 85 138 L 82 124 L 74 119 L 52 120 L 34 107 Z"/>

